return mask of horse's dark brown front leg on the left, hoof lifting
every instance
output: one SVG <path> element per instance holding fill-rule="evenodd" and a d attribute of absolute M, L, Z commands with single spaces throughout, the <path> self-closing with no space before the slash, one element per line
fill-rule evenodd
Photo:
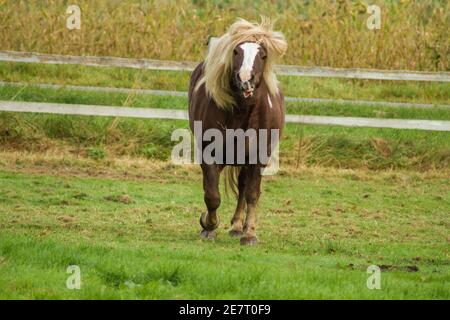
<path fill-rule="evenodd" d="M 207 212 L 200 216 L 200 225 L 203 230 L 201 237 L 206 239 L 214 239 L 216 236 L 215 229 L 219 226 L 219 217 L 217 208 L 220 205 L 219 178 L 222 167 L 219 165 L 202 164 L 203 171 L 203 190 Z"/>

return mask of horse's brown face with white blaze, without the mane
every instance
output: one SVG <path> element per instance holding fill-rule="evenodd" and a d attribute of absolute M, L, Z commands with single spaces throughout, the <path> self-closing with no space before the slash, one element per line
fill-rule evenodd
<path fill-rule="evenodd" d="M 257 42 L 243 42 L 233 50 L 232 87 L 244 98 L 253 96 L 263 78 L 266 49 Z"/>

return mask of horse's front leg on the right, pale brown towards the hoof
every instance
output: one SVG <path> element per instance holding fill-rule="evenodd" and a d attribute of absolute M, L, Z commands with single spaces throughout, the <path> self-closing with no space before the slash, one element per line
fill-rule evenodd
<path fill-rule="evenodd" d="M 247 216 L 244 224 L 244 235 L 241 238 L 242 245 L 253 245 L 258 242 L 256 237 L 256 207 L 261 194 L 261 170 L 256 165 L 247 169 L 247 183 L 245 187 L 245 200 L 247 202 Z"/>

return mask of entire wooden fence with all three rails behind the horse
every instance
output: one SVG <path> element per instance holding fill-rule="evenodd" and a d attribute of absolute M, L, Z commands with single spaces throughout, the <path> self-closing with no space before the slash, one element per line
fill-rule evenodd
<path fill-rule="evenodd" d="M 196 62 L 160 61 L 149 59 L 131 59 L 116 57 L 87 57 L 87 56 L 63 56 L 55 54 L 42 54 L 35 52 L 0 51 L 0 61 L 46 63 L 46 64 L 76 64 L 85 66 L 103 67 L 125 67 L 150 70 L 172 70 L 192 71 Z M 450 82 L 449 72 L 420 72 L 420 71 L 397 71 L 397 70 L 369 70 L 369 69 L 340 69 L 326 67 L 303 67 L 303 66 L 276 66 L 277 73 L 289 76 L 305 77 L 332 77 L 349 79 L 371 79 L 371 80 L 399 80 L 399 81 L 439 81 Z M 2 83 L 7 85 L 8 83 Z M 17 84 L 12 84 L 17 85 Z M 37 84 L 41 87 L 57 88 L 57 85 Z M 97 90 L 131 92 L 126 88 L 98 88 L 98 87 L 76 87 L 66 86 L 75 90 Z M 134 90 L 135 91 L 135 90 Z M 185 96 L 185 92 L 164 90 L 142 90 L 142 93 L 179 95 Z M 431 108 L 431 104 L 410 104 L 383 101 L 348 101 L 333 99 L 312 99 L 288 97 L 291 101 L 304 102 L 330 102 L 347 103 L 359 105 L 390 105 L 402 107 Z M 448 105 L 444 105 L 448 107 Z M 37 112 L 69 115 L 91 115 L 91 116 L 114 116 L 114 117 L 137 117 L 154 119 L 179 119 L 186 120 L 187 112 L 176 109 L 155 108 L 127 108 L 117 106 L 94 106 L 75 104 L 55 104 L 36 102 L 0 101 L 0 111 L 12 112 Z M 385 119 L 385 118 L 358 118 L 358 117 L 330 117 L 330 116 L 308 116 L 308 115 L 286 115 L 288 123 L 324 124 L 351 127 L 375 127 L 396 129 L 418 129 L 450 131 L 450 121 L 441 120 L 412 120 L 412 119 Z"/>

